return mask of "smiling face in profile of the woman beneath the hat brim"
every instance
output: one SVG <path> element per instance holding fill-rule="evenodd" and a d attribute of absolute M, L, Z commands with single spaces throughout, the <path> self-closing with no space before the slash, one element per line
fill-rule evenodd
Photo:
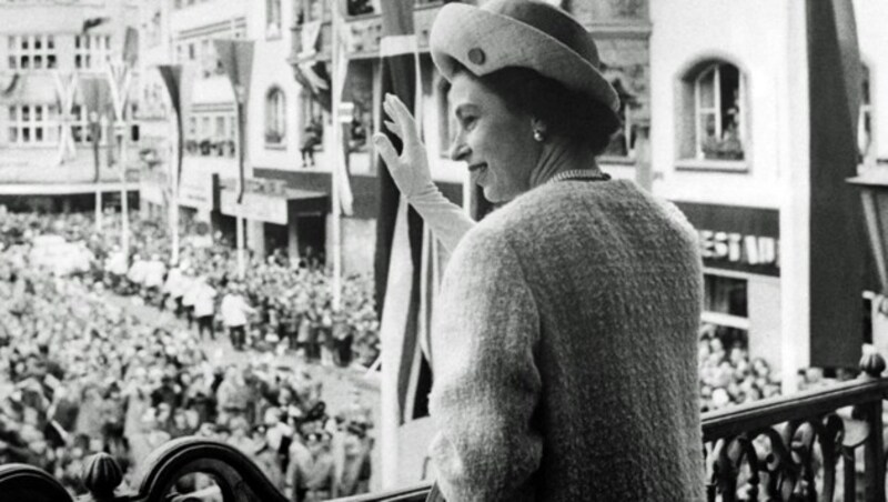
<path fill-rule="evenodd" d="M 466 162 L 472 181 L 491 202 L 506 202 L 531 189 L 541 154 L 531 116 L 511 110 L 475 77 L 457 73 L 451 82 L 456 137 L 451 159 Z"/>

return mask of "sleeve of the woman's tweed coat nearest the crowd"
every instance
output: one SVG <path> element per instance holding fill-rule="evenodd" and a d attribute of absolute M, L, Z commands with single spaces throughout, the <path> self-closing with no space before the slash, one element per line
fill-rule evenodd
<path fill-rule="evenodd" d="M 432 340 L 430 446 L 447 501 L 532 499 L 543 441 L 536 303 L 504 237 L 475 228 L 442 284 Z"/>

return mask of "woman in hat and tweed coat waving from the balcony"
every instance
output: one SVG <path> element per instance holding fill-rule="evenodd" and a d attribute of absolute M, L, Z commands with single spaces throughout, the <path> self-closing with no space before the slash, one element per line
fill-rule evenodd
<path fill-rule="evenodd" d="M 451 84 L 451 157 L 501 204 L 476 225 L 445 204 L 415 121 L 385 99 L 403 149 L 376 147 L 455 248 L 432 333 L 441 493 L 703 500 L 699 250 L 675 207 L 599 170 L 619 100 L 595 42 L 549 3 L 492 0 L 444 6 L 430 44 Z"/>

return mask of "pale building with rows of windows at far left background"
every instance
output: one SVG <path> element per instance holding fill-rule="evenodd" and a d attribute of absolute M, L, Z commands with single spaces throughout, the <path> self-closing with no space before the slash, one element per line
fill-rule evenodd
<path fill-rule="evenodd" d="M 130 92 L 123 165 L 113 144 L 108 64 L 121 61 L 137 17 L 135 1 L 0 2 L 0 19 L 16 21 L 0 23 L 0 203 L 82 210 L 94 207 L 95 192 L 115 204 L 121 190 L 134 191 L 138 98 Z M 98 128 L 85 106 L 87 81 L 98 86 Z"/>

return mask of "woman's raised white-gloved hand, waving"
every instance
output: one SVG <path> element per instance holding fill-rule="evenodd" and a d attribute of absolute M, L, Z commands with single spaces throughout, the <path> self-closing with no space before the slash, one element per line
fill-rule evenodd
<path fill-rule="evenodd" d="M 391 119 L 385 121 L 385 127 L 403 143 L 401 155 L 397 154 L 392 141 L 383 133 L 373 134 L 373 144 L 376 145 L 376 151 L 389 167 L 389 172 L 392 173 L 392 179 L 401 193 L 410 199 L 430 187 L 434 188 L 428 170 L 428 157 L 425 145 L 420 139 L 420 131 L 413 114 L 394 94 L 385 94 L 383 109 Z"/>

